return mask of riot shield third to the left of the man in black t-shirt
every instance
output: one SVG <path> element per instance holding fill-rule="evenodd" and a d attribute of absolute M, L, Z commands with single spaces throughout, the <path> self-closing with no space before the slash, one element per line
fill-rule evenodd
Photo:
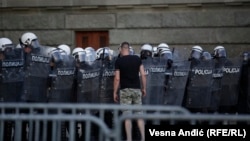
<path fill-rule="evenodd" d="M 75 74 L 75 60 L 72 56 L 62 55 L 62 62 L 55 65 L 51 77 L 49 102 L 72 102 L 72 88 Z"/>

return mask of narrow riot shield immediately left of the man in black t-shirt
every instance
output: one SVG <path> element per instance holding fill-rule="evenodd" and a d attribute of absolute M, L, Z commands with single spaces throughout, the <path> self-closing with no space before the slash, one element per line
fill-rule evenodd
<path fill-rule="evenodd" d="M 115 60 L 102 61 L 99 99 L 100 103 L 114 103 Z"/>

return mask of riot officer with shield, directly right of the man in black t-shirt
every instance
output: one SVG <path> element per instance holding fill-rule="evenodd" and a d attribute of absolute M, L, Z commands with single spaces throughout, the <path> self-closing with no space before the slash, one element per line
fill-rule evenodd
<path fill-rule="evenodd" d="M 157 54 L 159 55 L 164 48 L 167 47 L 159 46 Z M 161 105 L 163 104 L 164 74 L 167 63 L 159 56 L 152 57 L 152 51 L 153 47 L 150 44 L 143 44 L 140 51 L 140 58 L 147 77 L 147 95 L 143 98 L 143 104 Z"/>

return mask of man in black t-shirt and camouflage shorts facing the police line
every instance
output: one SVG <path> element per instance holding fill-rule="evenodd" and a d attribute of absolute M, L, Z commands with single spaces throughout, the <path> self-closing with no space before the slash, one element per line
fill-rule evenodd
<path fill-rule="evenodd" d="M 141 59 L 136 55 L 129 54 L 129 43 L 121 44 L 121 58 L 118 58 L 115 63 L 115 78 L 114 78 L 114 101 L 118 102 L 118 87 L 120 86 L 120 104 L 121 105 L 141 105 L 142 96 L 146 96 L 146 76 Z M 142 87 L 140 77 L 142 78 Z M 123 114 L 130 114 L 131 111 L 125 110 Z M 135 114 L 142 114 L 142 111 L 136 111 Z M 145 140 L 144 121 L 137 120 L 137 124 L 141 133 L 141 140 Z M 125 120 L 125 132 L 127 140 L 132 140 L 132 123 L 131 120 Z"/>

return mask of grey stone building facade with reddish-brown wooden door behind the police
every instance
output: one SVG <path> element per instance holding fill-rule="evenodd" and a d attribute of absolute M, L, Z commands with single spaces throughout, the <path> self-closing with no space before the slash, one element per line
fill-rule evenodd
<path fill-rule="evenodd" d="M 186 57 L 194 45 L 223 45 L 230 56 L 250 48 L 250 0 L 0 0 L 0 37 L 18 43 L 34 32 L 47 46 L 109 46 L 138 53 L 161 42 Z"/>

